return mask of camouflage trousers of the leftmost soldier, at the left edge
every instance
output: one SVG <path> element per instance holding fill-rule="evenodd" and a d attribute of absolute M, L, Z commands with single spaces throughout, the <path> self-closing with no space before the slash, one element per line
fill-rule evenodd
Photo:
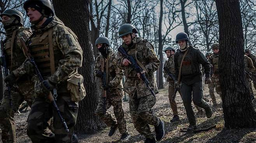
<path fill-rule="evenodd" d="M 3 143 L 16 143 L 15 113 L 24 100 L 31 107 L 33 99 L 33 83 L 30 82 L 22 82 L 11 88 L 12 108 L 10 107 L 8 90 L 4 91 L 4 98 L 0 106 L 0 127 Z"/>

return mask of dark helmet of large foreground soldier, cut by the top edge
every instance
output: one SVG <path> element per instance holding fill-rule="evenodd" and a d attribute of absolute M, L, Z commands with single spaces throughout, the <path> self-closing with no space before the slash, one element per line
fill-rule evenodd
<path fill-rule="evenodd" d="M 55 15 L 53 3 L 51 0 L 26 0 L 23 8 L 27 12 L 28 8 L 32 6 L 45 17 L 49 14 Z"/>

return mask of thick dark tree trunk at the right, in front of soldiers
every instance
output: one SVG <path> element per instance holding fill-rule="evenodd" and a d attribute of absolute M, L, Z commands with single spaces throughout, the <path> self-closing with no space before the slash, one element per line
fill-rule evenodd
<path fill-rule="evenodd" d="M 219 19 L 219 73 L 225 127 L 256 127 L 244 71 L 244 37 L 239 0 L 216 0 Z"/>

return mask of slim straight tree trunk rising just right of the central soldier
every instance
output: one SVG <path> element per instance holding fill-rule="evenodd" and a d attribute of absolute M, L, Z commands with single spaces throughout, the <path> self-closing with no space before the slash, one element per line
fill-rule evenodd
<path fill-rule="evenodd" d="M 163 89 L 163 44 L 162 44 L 162 20 L 163 20 L 163 0 L 160 0 L 160 18 L 158 25 L 158 55 L 160 60 L 160 67 L 158 73 L 158 89 Z"/>

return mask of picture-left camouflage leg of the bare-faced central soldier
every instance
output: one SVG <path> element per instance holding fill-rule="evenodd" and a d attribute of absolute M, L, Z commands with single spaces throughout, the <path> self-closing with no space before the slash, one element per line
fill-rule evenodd
<path fill-rule="evenodd" d="M 138 113 L 139 99 L 137 93 L 129 98 L 129 109 L 135 129 L 146 138 L 153 139 L 154 134 L 150 131 L 149 124 L 145 123 Z"/>

